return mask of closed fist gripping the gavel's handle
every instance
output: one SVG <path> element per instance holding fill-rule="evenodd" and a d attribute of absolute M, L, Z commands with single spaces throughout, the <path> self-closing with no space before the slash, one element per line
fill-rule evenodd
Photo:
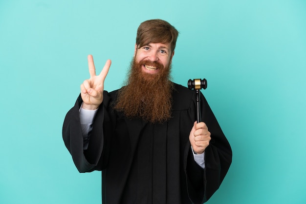
<path fill-rule="evenodd" d="M 204 122 L 195 122 L 189 135 L 189 141 L 195 153 L 202 154 L 211 140 L 210 132 Z"/>

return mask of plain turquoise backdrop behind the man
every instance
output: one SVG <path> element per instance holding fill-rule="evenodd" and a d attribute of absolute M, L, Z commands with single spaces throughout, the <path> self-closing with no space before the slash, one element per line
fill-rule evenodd
<path fill-rule="evenodd" d="M 0 0 L 0 203 L 99 204 L 100 172 L 78 173 L 62 124 L 89 77 L 119 88 L 136 29 L 180 32 L 174 82 L 206 78 L 233 148 L 208 204 L 306 203 L 305 0 Z"/>

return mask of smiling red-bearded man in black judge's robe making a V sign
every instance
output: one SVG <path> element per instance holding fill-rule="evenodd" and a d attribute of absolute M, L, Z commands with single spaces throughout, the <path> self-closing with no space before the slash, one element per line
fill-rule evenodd
<path fill-rule="evenodd" d="M 110 93 L 111 62 L 96 75 L 88 56 L 63 138 L 80 172 L 102 171 L 104 204 L 201 204 L 228 171 L 231 147 L 204 96 L 197 123 L 195 91 L 169 80 L 177 36 L 164 20 L 141 23 L 128 81 Z"/>

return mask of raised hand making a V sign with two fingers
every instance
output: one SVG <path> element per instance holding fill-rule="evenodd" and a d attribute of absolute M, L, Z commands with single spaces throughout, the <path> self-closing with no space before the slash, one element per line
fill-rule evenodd
<path fill-rule="evenodd" d="M 87 59 L 90 78 L 81 84 L 82 108 L 95 110 L 103 102 L 104 81 L 109 72 L 111 61 L 106 61 L 101 73 L 96 75 L 92 55 L 88 55 Z"/>

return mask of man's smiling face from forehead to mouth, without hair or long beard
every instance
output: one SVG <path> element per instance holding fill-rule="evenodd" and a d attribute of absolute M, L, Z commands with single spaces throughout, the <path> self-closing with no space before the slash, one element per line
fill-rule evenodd
<path fill-rule="evenodd" d="M 173 56 L 170 43 L 149 43 L 142 47 L 135 45 L 134 58 L 144 74 L 158 74 L 169 68 Z"/>

